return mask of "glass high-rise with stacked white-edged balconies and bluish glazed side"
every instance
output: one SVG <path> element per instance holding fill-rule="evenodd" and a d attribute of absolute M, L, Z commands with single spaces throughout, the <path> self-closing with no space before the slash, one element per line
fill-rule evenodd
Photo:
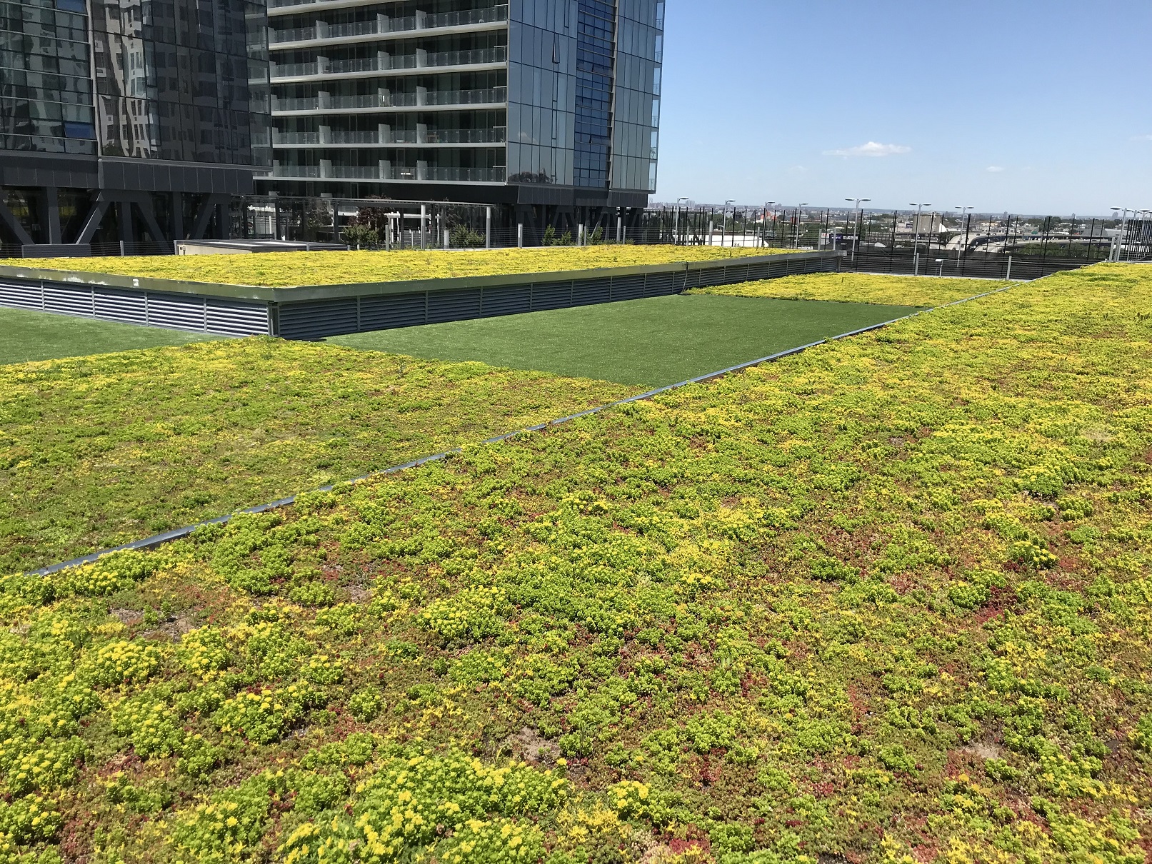
<path fill-rule="evenodd" d="M 664 7 L 271 0 L 273 170 L 257 185 L 508 204 L 550 223 L 642 207 L 657 180 Z"/>

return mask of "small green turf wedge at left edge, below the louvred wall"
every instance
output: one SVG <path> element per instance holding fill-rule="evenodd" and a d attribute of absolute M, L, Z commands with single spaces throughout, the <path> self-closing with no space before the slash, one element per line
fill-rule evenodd
<path fill-rule="evenodd" d="M 0 308 L 0 366 L 215 339 L 223 336 Z"/>

